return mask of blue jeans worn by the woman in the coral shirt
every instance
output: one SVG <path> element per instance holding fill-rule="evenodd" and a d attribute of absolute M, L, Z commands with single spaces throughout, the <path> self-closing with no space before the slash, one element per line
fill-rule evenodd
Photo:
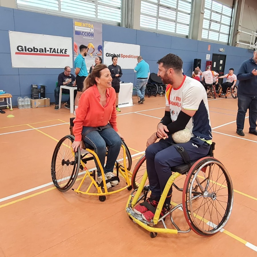
<path fill-rule="evenodd" d="M 90 127 L 83 127 L 82 134 Z M 101 131 L 91 131 L 85 138 L 84 142 L 94 148 L 104 173 L 113 172 L 114 164 L 117 160 L 121 150 L 121 138 L 113 128 L 105 128 Z M 106 146 L 109 146 L 107 161 L 105 165 Z M 97 166 L 97 176 L 101 176 L 100 168 L 95 160 Z"/>

